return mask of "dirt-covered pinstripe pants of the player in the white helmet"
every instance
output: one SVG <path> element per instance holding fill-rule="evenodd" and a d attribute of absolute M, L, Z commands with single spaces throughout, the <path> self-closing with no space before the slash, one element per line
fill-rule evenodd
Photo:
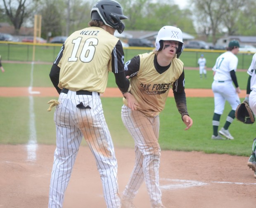
<path fill-rule="evenodd" d="M 125 105 L 122 106 L 121 115 L 123 124 L 135 142 L 135 165 L 123 191 L 123 197 L 132 200 L 145 180 L 151 206 L 154 207 L 161 203 L 159 116 L 146 116 L 141 111 L 132 111 Z"/>

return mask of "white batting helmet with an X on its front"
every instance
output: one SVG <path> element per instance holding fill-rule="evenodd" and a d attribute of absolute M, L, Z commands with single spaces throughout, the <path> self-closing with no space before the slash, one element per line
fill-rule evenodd
<path fill-rule="evenodd" d="M 174 26 L 162 27 L 156 36 L 156 50 L 160 51 L 163 49 L 163 41 L 161 40 L 176 40 L 179 42 L 178 50 L 176 52 L 177 58 L 183 51 L 183 37 L 180 28 Z"/>

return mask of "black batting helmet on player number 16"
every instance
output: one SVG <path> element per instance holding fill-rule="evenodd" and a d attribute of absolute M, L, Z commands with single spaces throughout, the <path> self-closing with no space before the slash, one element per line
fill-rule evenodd
<path fill-rule="evenodd" d="M 96 2 L 91 10 L 91 20 L 102 20 L 105 25 L 122 33 L 125 26 L 121 19 L 128 19 L 123 15 L 121 5 L 114 0 L 101 0 Z"/>

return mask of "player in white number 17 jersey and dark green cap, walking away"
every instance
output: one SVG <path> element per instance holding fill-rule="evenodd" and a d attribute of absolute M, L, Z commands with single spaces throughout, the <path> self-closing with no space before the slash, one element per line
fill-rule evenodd
<path fill-rule="evenodd" d="M 219 133 L 227 139 L 234 139 L 230 134 L 228 128 L 235 118 L 235 110 L 237 109 L 240 99 L 237 93 L 241 90 L 237 83 L 235 71 L 237 70 L 238 58 L 236 54 L 239 52 L 239 43 L 237 40 L 231 40 L 228 44 L 227 52 L 221 54 L 216 64 L 213 66 L 213 83 L 212 90 L 214 93 L 214 114 L 213 114 L 213 135 L 212 139 L 223 139 L 218 135 L 218 126 L 220 124 L 220 116 L 225 107 L 227 100 L 232 108 L 226 118 L 226 122 Z M 235 87 L 233 86 L 234 83 Z"/>

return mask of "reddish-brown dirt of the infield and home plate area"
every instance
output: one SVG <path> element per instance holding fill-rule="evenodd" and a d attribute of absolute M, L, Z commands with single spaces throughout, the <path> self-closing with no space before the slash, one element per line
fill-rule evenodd
<path fill-rule="evenodd" d="M 0 96 L 58 96 L 52 87 L 14 90 L 19 92 L 14 94 L 13 89 L 1 87 Z M 102 96 L 113 92 L 116 94 L 111 97 L 121 96 L 114 89 L 107 89 Z M 211 93 L 186 90 L 187 97 L 212 97 Z M 55 146 L 35 144 L 32 149 L 31 153 L 31 146 L 0 145 L 0 208 L 47 207 Z M 133 149 L 116 148 L 115 151 L 121 194 L 132 171 L 135 154 Z M 164 205 L 167 208 L 254 208 L 256 179 L 247 167 L 247 160 L 247 157 L 227 154 L 161 151 L 159 175 Z M 150 208 L 145 183 L 135 198 L 135 205 Z M 86 207 L 104 208 L 106 205 L 95 160 L 89 148 L 81 146 L 66 190 L 64 208 Z"/>

